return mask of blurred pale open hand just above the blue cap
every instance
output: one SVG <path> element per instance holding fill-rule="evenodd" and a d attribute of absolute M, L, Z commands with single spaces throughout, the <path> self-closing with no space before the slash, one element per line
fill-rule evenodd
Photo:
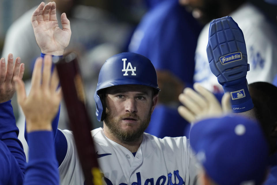
<path fill-rule="evenodd" d="M 214 94 L 203 88 L 200 84 L 193 85 L 191 88 L 185 88 L 179 95 L 179 100 L 185 106 L 179 106 L 179 114 L 190 123 L 200 119 L 218 116 L 223 113 L 231 112 L 230 94 L 226 93 L 222 97 L 222 107 Z"/>

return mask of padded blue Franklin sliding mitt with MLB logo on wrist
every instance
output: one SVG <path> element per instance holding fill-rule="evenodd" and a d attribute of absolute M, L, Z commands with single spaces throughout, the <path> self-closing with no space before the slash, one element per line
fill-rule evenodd
<path fill-rule="evenodd" d="M 232 17 L 215 19 L 209 28 L 207 56 L 212 73 L 224 92 L 231 93 L 233 112 L 245 112 L 253 108 L 246 80 L 246 45 L 242 30 Z"/>

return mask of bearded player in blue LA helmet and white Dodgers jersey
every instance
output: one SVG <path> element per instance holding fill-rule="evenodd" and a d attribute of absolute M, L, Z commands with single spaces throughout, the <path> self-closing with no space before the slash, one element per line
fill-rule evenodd
<path fill-rule="evenodd" d="M 42 53 L 62 55 L 70 24 L 62 14 L 59 29 L 52 7 L 53 3 L 41 3 L 32 25 Z M 94 98 L 97 119 L 104 125 L 91 135 L 106 184 L 196 183 L 197 166 L 186 137 L 160 139 L 144 133 L 159 90 L 156 70 L 144 56 L 120 53 L 102 66 Z M 55 145 L 61 184 L 84 184 L 72 132 L 57 130 Z"/>

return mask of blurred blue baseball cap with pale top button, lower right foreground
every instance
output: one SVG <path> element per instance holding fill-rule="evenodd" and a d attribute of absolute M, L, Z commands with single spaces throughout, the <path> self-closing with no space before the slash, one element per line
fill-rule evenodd
<path fill-rule="evenodd" d="M 269 149 L 254 120 L 234 115 L 202 120 L 190 131 L 190 145 L 217 184 L 256 185 L 265 180 Z"/>

